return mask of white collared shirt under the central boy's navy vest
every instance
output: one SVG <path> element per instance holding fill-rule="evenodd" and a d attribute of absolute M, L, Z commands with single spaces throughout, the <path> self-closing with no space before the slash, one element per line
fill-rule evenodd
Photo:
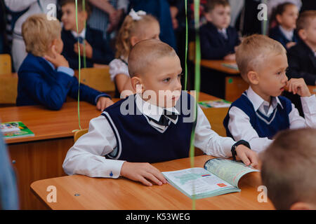
<path fill-rule="evenodd" d="M 154 120 L 159 120 L 163 109 L 147 105 L 143 99 L 136 97 L 136 106 L 146 116 Z M 167 109 L 177 113 L 175 108 Z M 158 114 L 156 113 L 158 111 Z M 159 113 L 161 111 L 161 113 Z M 150 112 L 155 112 L 150 114 Z M 177 123 L 178 119 L 169 122 Z M 153 127 L 156 124 L 150 123 Z M 168 127 L 166 127 L 168 128 Z M 181 131 L 181 130 L 179 130 Z M 157 132 L 159 132 L 157 130 Z M 159 134 L 159 133 L 157 133 Z M 166 143 L 168 144 L 168 143 Z M 207 155 L 227 158 L 232 156 L 231 148 L 235 141 L 228 137 L 220 137 L 211 130 L 209 120 L 207 120 L 202 109 L 197 109 L 197 125 L 195 129 L 195 146 L 200 148 Z M 105 155 L 117 148 L 117 141 L 114 132 L 104 116 L 93 118 L 89 124 L 89 131 L 76 141 L 74 146 L 68 151 L 62 165 L 68 175 L 82 174 L 91 177 L 112 177 L 118 178 L 121 174 L 121 166 L 125 161 L 106 159 Z M 124 149 L 123 149 L 124 150 Z"/>

